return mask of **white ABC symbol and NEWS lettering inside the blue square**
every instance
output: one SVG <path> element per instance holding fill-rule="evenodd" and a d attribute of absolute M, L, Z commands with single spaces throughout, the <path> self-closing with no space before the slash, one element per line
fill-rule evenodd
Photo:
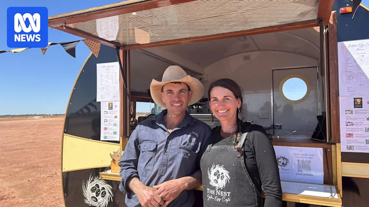
<path fill-rule="evenodd" d="M 21 15 L 17 13 L 14 15 L 14 31 L 17 33 L 26 32 L 29 33 L 31 31 L 37 33 L 41 30 L 41 21 L 40 14 L 34 13 L 31 15 L 30 13 L 25 13 Z M 27 27 L 25 25 L 25 20 L 30 21 L 30 25 Z M 41 41 L 40 34 L 14 34 L 14 42 L 39 42 Z"/>

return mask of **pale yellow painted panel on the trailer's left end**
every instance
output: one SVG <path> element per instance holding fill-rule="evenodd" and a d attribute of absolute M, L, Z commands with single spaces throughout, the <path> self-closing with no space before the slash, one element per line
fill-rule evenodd
<path fill-rule="evenodd" d="M 120 145 L 116 143 L 64 134 L 62 172 L 109 166 L 110 153 L 119 149 Z"/>

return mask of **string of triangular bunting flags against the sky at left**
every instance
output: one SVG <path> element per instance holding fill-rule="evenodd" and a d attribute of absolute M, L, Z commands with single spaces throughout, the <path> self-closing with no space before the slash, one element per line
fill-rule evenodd
<path fill-rule="evenodd" d="M 77 46 L 77 43 L 80 42 L 80 41 L 85 43 L 85 45 L 91 50 L 91 52 L 96 57 L 99 56 L 101 43 L 94 42 L 94 41 L 91 41 L 89 39 L 82 39 L 82 40 L 76 40 L 76 41 L 70 41 L 70 42 L 61 42 L 61 43 L 49 42 L 48 45 L 46 46 L 46 48 L 41 48 L 41 53 L 42 53 L 42 55 L 45 55 L 46 50 L 51 45 L 61 45 L 63 47 L 63 49 L 65 50 L 65 52 L 67 52 L 72 57 L 76 57 L 76 46 Z M 22 52 L 22 51 L 27 50 L 27 49 L 30 49 L 30 48 L 17 48 L 17 49 L 12 49 L 12 50 L 9 50 L 9 51 L 0 50 L 0 54 L 1 53 L 6 53 L 6 52 L 17 53 L 17 52 Z"/>

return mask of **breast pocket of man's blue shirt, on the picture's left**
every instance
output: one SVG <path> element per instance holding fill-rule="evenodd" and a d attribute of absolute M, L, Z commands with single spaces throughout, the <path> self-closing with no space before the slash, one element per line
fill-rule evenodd
<path fill-rule="evenodd" d="M 157 146 L 158 143 L 155 141 L 143 141 L 138 145 L 140 150 L 137 166 L 139 176 L 151 175 L 154 169 Z"/>

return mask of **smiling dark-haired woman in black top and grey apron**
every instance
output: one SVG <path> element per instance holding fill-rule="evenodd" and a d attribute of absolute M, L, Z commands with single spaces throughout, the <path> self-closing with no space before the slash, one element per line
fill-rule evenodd
<path fill-rule="evenodd" d="M 201 157 L 204 207 L 263 206 L 261 186 L 264 206 L 281 207 L 272 142 L 262 126 L 242 122 L 241 88 L 233 80 L 220 79 L 210 85 L 208 96 L 221 126 L 213 129 L 212 143 Z"/>

